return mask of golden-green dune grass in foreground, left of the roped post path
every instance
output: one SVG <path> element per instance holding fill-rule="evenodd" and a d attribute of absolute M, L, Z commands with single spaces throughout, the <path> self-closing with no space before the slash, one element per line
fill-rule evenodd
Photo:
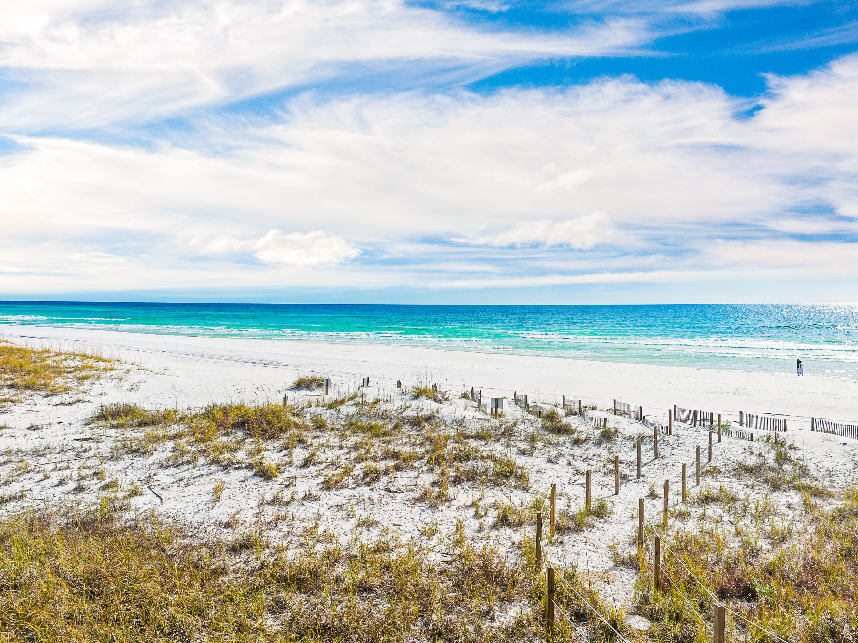
<path fill-rule="evenodd" d="M 367 519 L 364 520 L 369 524 Z M 364 526 L 366 526 L 364 525 Z M 541 634 L 530 558 L 451 537 L 444 560 L 386 530 L 290 552 L 257 532 L 202 542 L 176 521 L 83 513 L 0 521 L 0 636 L 28 641 L 507 641 Z M 577 582 L 577 581 L 576 581 Z M 575 614 L 564 594 L 559 595 Z M 586 620 L 586 619 L 585 619 Z"/>

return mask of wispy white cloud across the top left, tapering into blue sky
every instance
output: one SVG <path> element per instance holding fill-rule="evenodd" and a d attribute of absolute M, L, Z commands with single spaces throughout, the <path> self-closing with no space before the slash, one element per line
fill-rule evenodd
<path fill-rule="evenodd" d="M 650 38 L 643 22 L 563 33 L 478 28 L 404 0 L 3 3 L 6 131 L 105 128 L 343 76 L 467 80 L 511 64 L 607 55 Z"/>

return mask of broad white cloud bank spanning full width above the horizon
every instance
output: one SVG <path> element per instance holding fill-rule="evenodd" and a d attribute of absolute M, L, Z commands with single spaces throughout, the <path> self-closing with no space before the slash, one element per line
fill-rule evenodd
<path fill-rule="evenodd" d="M 770 82 L 750 118 L 718 88 L 624 77 L 303 96 L 270 124 L 201 119 L 182 146 L 145 150 L 15 136 L 0 292 L 169 289 L 177 274 L 248 292 L 284 264 L 330 288 L 848 278 L 858 57 Z"/>

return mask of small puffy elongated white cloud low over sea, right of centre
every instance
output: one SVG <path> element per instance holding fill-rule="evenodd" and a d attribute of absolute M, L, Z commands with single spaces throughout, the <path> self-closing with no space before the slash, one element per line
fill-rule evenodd
<path fill-rule="evenodd" d="M 474 244 L 489 246 L 523 246 L 540 244 L 541 246 L 569 246 L 576 250 L 589 250 L 613 235 L 611 218 L 603 212 L 579 216 L 566 221 L 528 221 L 515 227 L 495 233 L 462 239 Z"/>

